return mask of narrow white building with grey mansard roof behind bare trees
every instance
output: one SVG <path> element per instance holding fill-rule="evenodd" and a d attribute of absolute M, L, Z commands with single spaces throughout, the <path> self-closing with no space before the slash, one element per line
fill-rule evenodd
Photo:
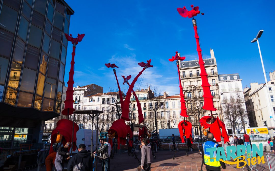
<path fill-rule="evenodd" d="M 242 90 L 242 79 L 239 74 L 219 75 L 219 92 L 221 98 L 222 113 L 224 124 L 229 134 L 233 134 L 232 120 L 235 121 L 235 133 L 243 133 L 244 127 L 249 127 L 249 120 L 246 112 L 246 105 Z M 232 114 L 229 109 L 238 106 L 238 113 Z"/>

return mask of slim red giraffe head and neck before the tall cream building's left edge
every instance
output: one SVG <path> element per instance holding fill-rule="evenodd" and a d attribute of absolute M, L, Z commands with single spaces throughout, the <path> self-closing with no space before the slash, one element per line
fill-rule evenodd
<path fill-rule="evenodd" d="M 180 109 L 182 111 L 180 112 L 180 115 L 183 117 L 188 117 L 186 112 L 186 106 L 185 106 L 185 100 L 184 100 L 184 94 L 183 94 L 183 88 L 182 88 L 182 81 L 180 80 L 180 67 L 179 67 L 179 61 L 185 60 L 185 57 L 180 57 L 178 54 L 178 51 L 176 52 L 176 55 L 172 57 L 172 59 L 169 59 L 170 62 L 177 61 L 177 68 L 178 68 L 178 79 L 180 82 Z"/>

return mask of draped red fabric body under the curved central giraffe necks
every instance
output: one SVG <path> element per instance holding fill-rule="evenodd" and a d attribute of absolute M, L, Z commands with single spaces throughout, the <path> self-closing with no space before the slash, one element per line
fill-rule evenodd
<path fill-rule="evenodd" d="M 133 137 L 133 132 L 131 131 L 131 128 L 129 125 L 126 125 L 125 121 L 121 118 L 119 120 L 116 120 L 113 122 L 112 126 L 108 130 L 108 133 L 113 135 L 115 134 L 115 138 L 117 138 L 117 144 L 125 145 L 127 140 L 126 137 L 129 134 L 130 138 Z M 109 143 L 112 144 L 112 139 L 109 139 Z M 130 146 L 132 146 L 132 143 L 129 142 Z M 120 149 L 120 146 L 117 147 Z"/>

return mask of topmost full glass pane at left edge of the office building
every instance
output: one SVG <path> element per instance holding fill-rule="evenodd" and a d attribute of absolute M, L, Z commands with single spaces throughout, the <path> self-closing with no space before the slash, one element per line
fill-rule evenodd
<path fill-rule="evenodd" d="M 8 7 L 7 5 L 3 4 L 1 15 L 0 15 L 0 23 L 5 27 L 3 27 L 2 25 L 0 25 L 0 27 L 14 33 L 16 24 L 17 24 L 17 18 L 18 18 L 18 12 Z M 63 25 L 63 22 L 62 22 L 62 25 Z"/>

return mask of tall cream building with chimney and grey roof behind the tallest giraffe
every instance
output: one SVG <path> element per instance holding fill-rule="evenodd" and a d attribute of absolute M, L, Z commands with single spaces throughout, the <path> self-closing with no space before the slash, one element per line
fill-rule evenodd
<path fill-rule="evenodd" d="M 205 70 L 208 74 L 208 82 L 210 84 L 210 91 L 213 96 L 213 103 L 214 107 L 217 109 L 213 112 L 214 117 L 219 117 L 221 120 L 223 120 L 222 112 L 221 112 L 221 100 L 220 100 L 220 93 L 219 93 L 219 77 L 218 77 L 218 68 L 216 63 L 216 58 L 214 55 L 213 49 L 210 49 L 211 58 L 204 59 L 204 66 Z M 194 99 L 196 101 L 200 101 L 197 104 L 202 106 L 203 99 L 201 99 L 203 95 L 202 91 L 202 79 L 200 77 L 200 66 L 199 66 L 199 60 L 191 60 L 191 61 L 182 61 L 180 62 L 180 79 L 182 81 L 183 86 L 183 92 L 186 99 L 186 108 L 193 110 L 194 108 Z M 210 115 L 210 111 L 203 111 L 199 108 L 197 109 L 201 113 L 201 116 Z M 196 113 L 196 112 L 195 112 Z M 191 117 L 195 117 L 195 120 L 199 120 L 199 118 L 196 117 L 194 112 L 189 113 Z M 200 117 L 201 118 L 201 117 Z M 197 123 L 199 124 L 199 123 Z"/>

